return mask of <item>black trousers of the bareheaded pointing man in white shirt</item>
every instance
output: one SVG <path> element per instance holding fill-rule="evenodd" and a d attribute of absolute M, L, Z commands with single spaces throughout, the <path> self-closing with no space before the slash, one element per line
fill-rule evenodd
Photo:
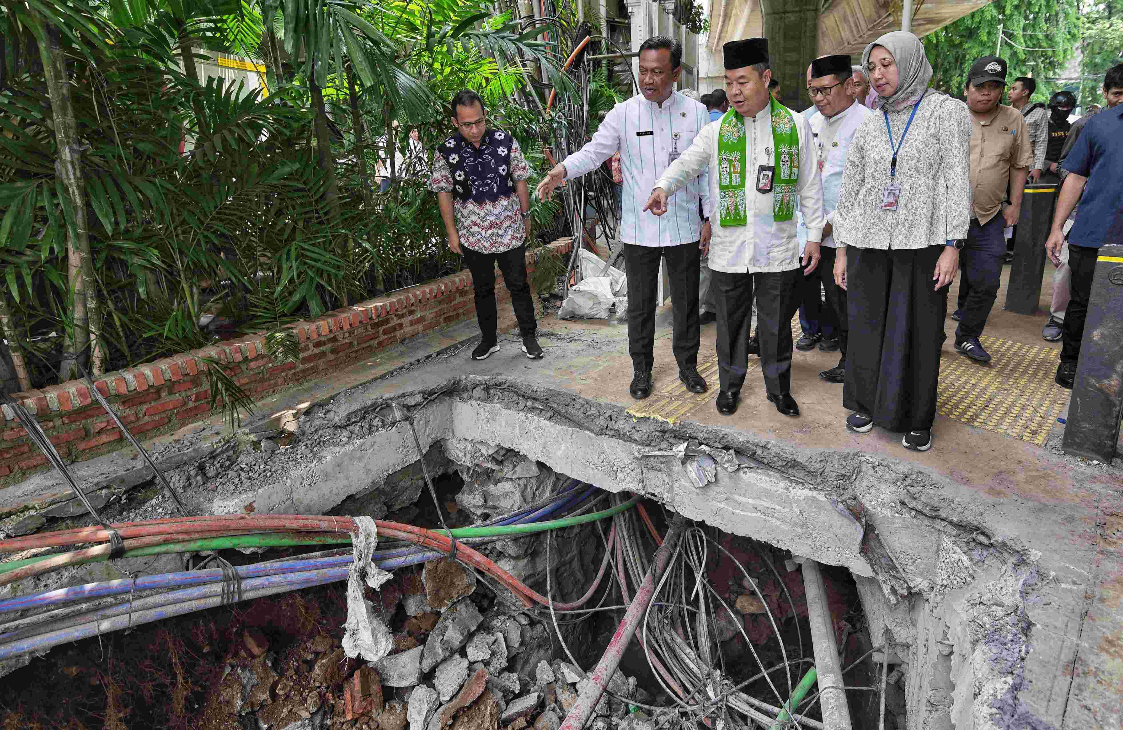
<path fill-rule="evenodd" d="M 659 261 L 667 259 L 670 305 L 674 307 L 672 351 L 678 369 L 699 362 L 699 260 L 697 241 L 682 246 L 636 246 L 624 243 L 628 274 L 628 353 L 632 369 L 649 371 L 655 366 L 655 309 L 658 305 Z"/>

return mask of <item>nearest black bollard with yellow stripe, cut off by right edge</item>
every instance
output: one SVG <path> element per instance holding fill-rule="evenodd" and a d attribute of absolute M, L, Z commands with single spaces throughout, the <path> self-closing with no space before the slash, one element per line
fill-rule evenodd
<path fill-rule="evenodd" d="M 1068 406 L 1066 454 L 1112 463 L 1123 418 L 1123 244 L 1099 249 Z"/>

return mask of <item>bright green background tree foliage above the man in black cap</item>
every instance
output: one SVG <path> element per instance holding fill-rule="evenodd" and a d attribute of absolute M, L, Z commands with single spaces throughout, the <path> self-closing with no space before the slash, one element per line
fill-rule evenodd
<path fill-rule="evenodd" d="M 932 64 L 932 85 L 962 95 L 967 72 L 976 58 L 998 49 L 1008 64 L 1007 80 L 1059 76 L 1080 39 L 1078 0 L 995 0 L 924 37 Z M 1033 49 L 1033 50 L 1031 50 Z M 1046 49 L 1046 50 L 1038 50 Z M 1033 101 L 1046 101 L 1062 85 L 1038 82 Z"/>

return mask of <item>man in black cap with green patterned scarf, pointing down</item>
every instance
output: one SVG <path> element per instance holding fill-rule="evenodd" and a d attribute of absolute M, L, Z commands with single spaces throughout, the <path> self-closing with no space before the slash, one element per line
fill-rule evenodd
<path fill-rule="evenodd" d="M 656 181 L 645 206 L 656 215 L 667 198 L 710 170 L 712 290 L 718 309 L 718 412 L 737 412 L 749 362 L 752 299 L 757 302 L 760 371 L 776 410 L 798 416 L 792 397 L 793 305 L 803 275 L 819 265 L 827 219 L 819 155 L 806 119 L 768 93 L 768 41 L 733 40 L 723 47 L 731 109 L 707 124 Z M 796 197 L 807 227 L 801 260 Z M 802 272 L 801 272 L 802 268 Z"/>

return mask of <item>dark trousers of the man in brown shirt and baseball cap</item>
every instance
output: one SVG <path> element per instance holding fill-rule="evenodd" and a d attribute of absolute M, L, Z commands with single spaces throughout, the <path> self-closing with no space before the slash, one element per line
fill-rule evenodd
<path fill-rule="evenodd" d="M 960 311 L 956 341 L 962 342 L 983 334 L 990 309 L 998 296 L 1002 264 L 1006 256 L 1006 239 L 1002 232 L 1006 219 L 996 214 L 984 225 L 977 218 L 971 219 L 967 231 L 967 243 L 959 252 L 959 297 L 956 304 Z"/>

